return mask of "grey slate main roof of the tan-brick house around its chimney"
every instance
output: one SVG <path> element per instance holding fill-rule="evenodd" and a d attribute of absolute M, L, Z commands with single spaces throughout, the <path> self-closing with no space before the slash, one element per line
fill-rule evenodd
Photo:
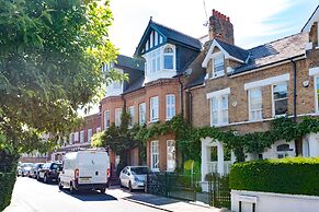
<path fill-rule="evenodd" d="M 306 52 L 306 44 L 308 43 L 308 34 L 299 33 L 248 50 L 241 49 L 219 39 L 217 42 L 230 56 L 238 59 L 241 58 L 242 61 L 248 61 L 233 70 L 232 75 L 236 75 L 304 55 Z M 209 47 L 210 45 L 212 40 L 207 42 L 205 46 Z M 189 67 L 189 69 L 192 70 L 192 73 L 186 87 L 204 84 L 206 70 L 198 67 L 198 59 L 202 59 L 202 61 L 204 60 L 203 54 L 206 55 L 207 49 L 204 50 Z"/>

